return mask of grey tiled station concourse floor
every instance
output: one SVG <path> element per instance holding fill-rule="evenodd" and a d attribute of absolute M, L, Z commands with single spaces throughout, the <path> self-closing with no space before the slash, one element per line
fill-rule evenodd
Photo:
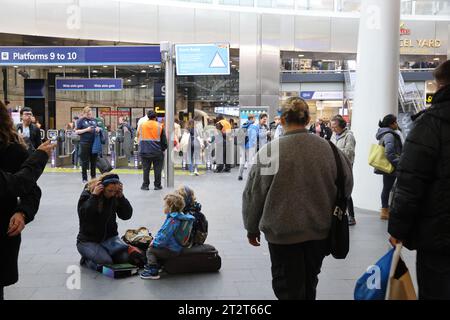
<path fill-rule="evenodd" d="M 128 228 L 147 226 L 156 233 L 164 220 L 162 199 L 168 190 L 141 191 L 141 176 L 123 174 L 124 192 L 134 214 L 119 222 L 121 234 Z M 188 184 L 203 205 L 209 220 L 207 242 L 222 257 L 219 273 L 165 275 L 159 281 L 138 277 L 112 280 L 82 268 L 80 290 L 70 290 L 70 266 L 77 266 L 77 201 L 80 174 L 45 173 L 41 207 L 23 233 L 20 280 L 5 289 L 7 299 L 274 299 L 270 257 L 265 241 L 259 248 L 246 240 L 241 217 L 245 181 L 232 173 L 208 173 L 199 177 L 176 176 L 176 186 Z M 374 194 L 378 194 L 375 191 Z M 346 260 L 327 257 L 318 286 L 318 299 L 352 299 L 355 281 L 389 248 L 386 222 L 374 212 L 357 210 L 358 224 L 351 229 L 351 251 Z M 404 252 L 414 275 L 414 255 Z M 415 276 L 413 277 L 415 278 Z"/>

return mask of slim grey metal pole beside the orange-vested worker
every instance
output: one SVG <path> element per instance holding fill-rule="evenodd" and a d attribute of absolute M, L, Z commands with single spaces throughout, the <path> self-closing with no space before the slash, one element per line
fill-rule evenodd
<path fill-rule="evenodd" d="M 165 99 L 165 126 L 167 136 L 167 150 L 165 157 L 165 177 L 166 187 L 173 188 L 175 184 L 174 179 L 174 166 L 173 166 L 173 130 L 175 120 L 175 64 L 174 64 L 174 46 L 172 43 L 163 41 L 161 42 L 161 61 L 165 64 L 165 86 L 166 86 L 166 99 Z"/>

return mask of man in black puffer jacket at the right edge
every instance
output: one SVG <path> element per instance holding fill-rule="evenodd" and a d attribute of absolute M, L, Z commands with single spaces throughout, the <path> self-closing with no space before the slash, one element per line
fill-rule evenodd
<path fill-rule="evenodd" d="M 432 105 L 413 116 L 397 168 L 388 232 L 417 250 L 419 299 L 450 299 L 450 60 Z"/>

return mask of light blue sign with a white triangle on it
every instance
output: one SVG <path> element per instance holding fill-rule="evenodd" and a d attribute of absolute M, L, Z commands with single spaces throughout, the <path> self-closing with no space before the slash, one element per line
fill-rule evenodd
<path fill-rule="evenodd" d="M 228 44 L 175 45 L 178 76 L 230 74 Z"/>

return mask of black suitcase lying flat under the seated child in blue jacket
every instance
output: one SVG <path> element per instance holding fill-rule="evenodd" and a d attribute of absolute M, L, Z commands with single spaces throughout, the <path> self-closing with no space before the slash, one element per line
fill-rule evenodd
<path fill-rule="evenodd" d="M 221 266 L 219 252 L 209 244 L 185 248 L 179 256 L 163 262 L 163 269 L 172 274 L 217 272 Z"/>

